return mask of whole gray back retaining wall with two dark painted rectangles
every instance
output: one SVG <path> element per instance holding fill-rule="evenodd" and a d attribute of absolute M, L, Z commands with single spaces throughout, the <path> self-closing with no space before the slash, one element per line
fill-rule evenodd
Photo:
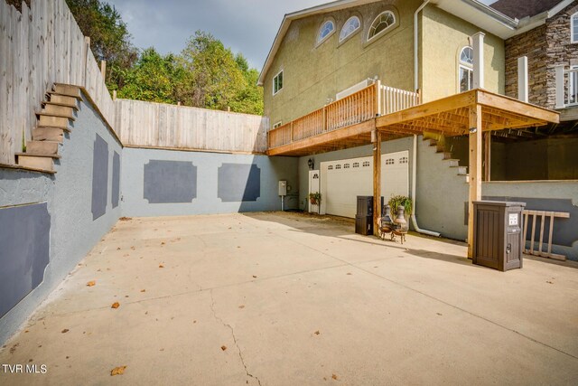
<path fill-rule="evenodd" d="M 145 177 L 145 169 L 151 167 L 163 168 L 165 175 L 157 175 L 162 177 L 158 181 Z M 296 158 L 126 147 L 122 212 L 124 216 L 171 216 L 278 211 L 280 180 L 286 180 L 293 192 L 298 190 Z M 182 197 L 163 194 L 159 184 L 171 184 Z M 193 190 L 194 196 L 189 196 L 187 192 Z"/>

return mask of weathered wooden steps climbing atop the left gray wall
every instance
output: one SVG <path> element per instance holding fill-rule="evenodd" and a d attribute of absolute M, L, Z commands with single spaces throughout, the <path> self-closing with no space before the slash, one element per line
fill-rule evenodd
<path fill-rule="evenodd" d="M 28 169 L 54 174 L 54 160 L 59 159 L 59 144 L 64 133 L 70 133 L 70 121 L 79 109 L 80 88 L 55 83 L 46 93 L 42 109 L 36 112 L 37 126 L 33 129 L 33 140 L 26 142 L 26 150 L 16 154 L 16 164 Z"/>

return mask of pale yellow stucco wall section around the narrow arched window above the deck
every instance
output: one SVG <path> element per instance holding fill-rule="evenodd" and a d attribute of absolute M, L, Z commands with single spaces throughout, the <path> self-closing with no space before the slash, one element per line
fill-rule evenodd
<path fill-rule="evenodd" d="M 428 5 L 420 25 L 420 84 L 424 101 L 440 99 L 460 91 L 458 55 L 468 45 L 468 37 L 480 32 L 443 10 Z M 483 31 L 482 31 L 483 32 Z M 484 88 L 504 93 L 504 41 L 486 33 L 484 37 Z"/>

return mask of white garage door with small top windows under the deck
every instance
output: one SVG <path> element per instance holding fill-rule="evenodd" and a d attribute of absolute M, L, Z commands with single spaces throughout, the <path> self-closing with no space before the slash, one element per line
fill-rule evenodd
<path fill-rule="evenodd" d="M 381 194 L 409 194 L 409 152 L 381 155 Z M 322 213 L 354 218 L 357 196 L 373 195 L 373 157 L 321 163 Z"/>

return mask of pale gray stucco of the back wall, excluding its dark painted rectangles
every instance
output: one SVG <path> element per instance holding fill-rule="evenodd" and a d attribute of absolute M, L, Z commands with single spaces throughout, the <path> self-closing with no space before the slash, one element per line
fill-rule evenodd
<path fill-rule="evenodd" d="M 196 179 L 196 194 L 189 202 L 154 203 L 145 198 L 144 167 L 151 161 L 169 161 L 193 165 Z M 247 176 L 230 175 L 229 181 L 219 182 L 219 168 L 223 164 L 256 165 L 259 186 Z M 171 164 L 169 164 L 169 168 Z M 183 152 L 172 150 L 125 148 L 121 176 L 122 212 L 124 216 L 171 216 L 211 213 L 280 211 L 281 198 L 278 183 L 286 180 L 291 186 L 287 193 L 297 192 L 297 159 L 292 157 L 267 157 L 265 155 L 231 155 L 219 153 Z M 242 180 L 238 180 L 241 178 Z M 232 181 L 235 179 L 236 181 Z M 220 184 L 220 187 L 219 187 Z M 249 186 L 253 185 L 253 186 Z M 241 186 L 256 188 L 256 201 L 227 202 L 219 198 L 219 191 Z M 234 192 L 233 192 L 234 193 Z M 285 209 L 296 207 L 296 202 L 285 199 Z"/>

